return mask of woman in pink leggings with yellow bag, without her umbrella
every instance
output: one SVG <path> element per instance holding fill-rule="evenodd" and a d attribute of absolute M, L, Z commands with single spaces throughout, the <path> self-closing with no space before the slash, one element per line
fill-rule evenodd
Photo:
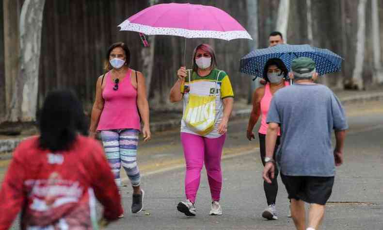
<path fill-rule="evenodd" d="M 212 199 L 209 214 L 222 215 L 221 156 L 234 93 L 227 74 L 216 68 L 215 53 L 209 45 L 197 46 L 192 57 L 192 70 L 181 66 L 170 91 L 170 101 L 182 100 L 184 108 L 181 141 L 186 161 L 186 201 L 179 202 L 177 210 L 195 216 L 194 203 L 205 164 Z"/>

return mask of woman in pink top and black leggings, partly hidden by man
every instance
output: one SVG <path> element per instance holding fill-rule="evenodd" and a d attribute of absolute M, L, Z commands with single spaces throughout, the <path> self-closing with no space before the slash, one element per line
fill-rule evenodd
<path fill-rule="evenodd" d="M 263 78 L 266 80 L 266 85 L 257 88 L 253 95 L 253 110 L 250 115 L 249 124 L 247 127 L 247 139 L 251 141 L 255 138 L 253 133 L 253 128 L 258 121 L 260 115 L 262 115 L 261 126 L 258 131 L 259 136 L 259 151 L 261 153 L 261 160 L 263 166 L 265 166 L 265 137 L 268 128 L 266 124 L 267 113 L 269 111 L 272 95 L 280 88 L 283 88 L 288 84 L 285 81 L 288 71 L 285 64 L 279 58 L 271 58 L 266 62 L 266 65 L 263 69 Z M 279 146 L 279 137 L 280 131 L 278 133 L 278 138 L 276 140 L 275 151 Z M 275 159 L 274 159 L 275 160 Z M 275 198 L 278 192 L 278 183 L 277 176 L 278 170 L 275 170 L 274 179 L 271 181 L 271 184 L 266 181 L 263 182 L 263 188 L 265 190 L 267 205 L 268 207 L 262 213 L 262 216 L 266 219 L 278 219 L 275 212 Z"/>

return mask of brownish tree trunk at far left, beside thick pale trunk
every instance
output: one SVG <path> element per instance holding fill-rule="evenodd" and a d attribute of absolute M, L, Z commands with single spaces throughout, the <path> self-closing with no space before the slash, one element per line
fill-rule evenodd
<path fill-rule="evenodd" d="M 17 79 L 19 67 L 19 7 L 18 1 L 3 0 L 4 14 L 4 75 L 5 75 L 5 108 L 8 111 L 12 99 L 12 89 Z M 5 120 L 1 116 L 0 123 Z"/>

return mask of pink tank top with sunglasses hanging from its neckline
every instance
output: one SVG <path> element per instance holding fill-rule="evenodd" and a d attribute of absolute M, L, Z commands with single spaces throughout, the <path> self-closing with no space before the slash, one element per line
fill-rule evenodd
<path fill-rule="evenodd" d="M 97 130 L 135 129 L 140 130 L 140 116 L 137 111 L 137 90 L 131 83 L 131 72 L 118 83 L 114 90 L 111 74 L 105 75 L 105 87 L 102 91 L 104 109 L 101 112 Z"/>

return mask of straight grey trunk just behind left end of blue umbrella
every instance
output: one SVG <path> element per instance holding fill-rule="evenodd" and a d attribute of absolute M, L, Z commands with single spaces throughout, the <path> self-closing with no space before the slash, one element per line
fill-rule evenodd
<path fill-rule="evenodd" d="M 250 50 L 258 48 L 258 0 L 247 0 L 247 32 L 251 35 L 253 40 L 249 40 Z M 253 92 L 255 88 L 259 87 L 258 80 L 251 81 L 249 84 L 249 94 L 247 103 L 251 104 L 253 99 Z"/>

